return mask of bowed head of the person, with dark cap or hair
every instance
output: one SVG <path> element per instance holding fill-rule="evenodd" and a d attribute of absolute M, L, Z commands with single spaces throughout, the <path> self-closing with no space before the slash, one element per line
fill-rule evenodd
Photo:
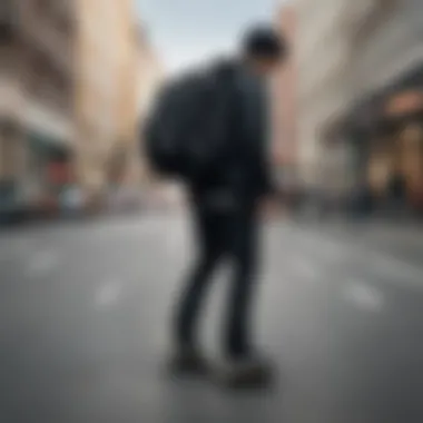
<path fill-rule="evenodd" d="M 284 37 L 270 26 L 257 26 L 249 29 L 242 42 L 244 59 L 255 72 L 266 76 L 287 57 L 287 43 Z"/>

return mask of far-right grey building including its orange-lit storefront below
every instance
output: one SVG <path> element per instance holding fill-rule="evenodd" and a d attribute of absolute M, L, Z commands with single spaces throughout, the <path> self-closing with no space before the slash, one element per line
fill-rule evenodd
<path fill-rule="evenodd" d="M 423 212 L 423 3 L 372 6 L 352 37 L 350 141 L 375 205 L 400 178 L 404 201 Z"/>

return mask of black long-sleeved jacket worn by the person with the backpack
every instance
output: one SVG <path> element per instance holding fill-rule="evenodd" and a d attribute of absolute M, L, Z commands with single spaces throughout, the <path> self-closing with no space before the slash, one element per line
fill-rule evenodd
<path fill-rule="evenodd" d="M 233 72 L 227 160 L 218 171 L 193 184 L 196 201 L 213 208 L 237 207 L 273 190 L 268 163 L 269 115 L 265 82 L 236 61 L 219 63 Z"/>

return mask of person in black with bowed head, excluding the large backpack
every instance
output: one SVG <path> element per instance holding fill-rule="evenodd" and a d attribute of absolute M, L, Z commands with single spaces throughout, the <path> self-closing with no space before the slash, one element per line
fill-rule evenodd
<path fill-rule="evenodd" d="M 198 345 L 197 323 L 212 274 L 228 259 L 233 277 L 223 343 L 228 362 L 224 381 L 230 385 L 262 385 L 273 374 L 252 344 L 250 312 L 256 294 L 259 205 L 273 191 L 266 156 L 266 77 L 285 55 L 284 39 L 270 27 L 255 27 L 246 33 L 240 57 L 230 59 L 237 92 L 230 119 L 235 154 L 222 164 L 218 175 L 189 186 L 199 256 L 177 303 L 171 366 L 194 373 L 209 368 Z"/>

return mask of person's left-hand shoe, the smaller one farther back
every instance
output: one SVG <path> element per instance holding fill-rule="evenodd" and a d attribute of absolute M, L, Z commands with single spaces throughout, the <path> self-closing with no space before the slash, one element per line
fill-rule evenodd
<path fill-rule="evenodd" d="M 209 372 L 209 365 L 197 350 L 181 348 L 170 358 L 169 371 L 176 376 L 203 376 Z"/>

